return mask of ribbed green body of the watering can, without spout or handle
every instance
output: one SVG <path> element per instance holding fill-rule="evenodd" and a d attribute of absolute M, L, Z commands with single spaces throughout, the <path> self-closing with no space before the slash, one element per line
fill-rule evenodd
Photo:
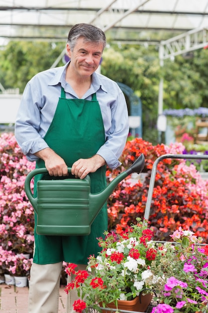
<path fill-rule="evenodd" d="M 90 177 L 37 181 L 36 231 L 39 234 L 90 233 Z"/>

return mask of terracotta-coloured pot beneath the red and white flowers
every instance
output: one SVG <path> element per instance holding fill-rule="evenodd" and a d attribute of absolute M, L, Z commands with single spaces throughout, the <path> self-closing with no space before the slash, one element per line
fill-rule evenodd
<path fill-rule="evenodd" d="M 152 293 L 148 293 L 141 296 L 139 295 L 133 300 L 118 300 L 118 309 L 144 312 L 147 309 L 148 305 L 150 304 L 152 297 L 153 297 Z M 116 308 L 113 302 L 108 303 L 106 307 Z M 109 313 L 109 310 L 102 309 L 102 313 Z"/>

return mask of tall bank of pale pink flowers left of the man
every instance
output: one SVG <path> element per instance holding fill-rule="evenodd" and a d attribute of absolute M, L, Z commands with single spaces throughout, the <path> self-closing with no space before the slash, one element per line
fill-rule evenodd
<path fill-rule="evenodd" d="M 33 252 L 34 214 L 24 192 L 25 176 L 33 168 L 34 163 L 27 161 L 13 134 L 2 133 L 0 136 L 0 266 L 13 274 L 17 265 L 15 255 L 29 253 L 32 256 Z M 6 261 L 3 261 L 4 257 L 11 263 L 6 264 Z M 25 262 L 28 261 L 25 259 Z"/>

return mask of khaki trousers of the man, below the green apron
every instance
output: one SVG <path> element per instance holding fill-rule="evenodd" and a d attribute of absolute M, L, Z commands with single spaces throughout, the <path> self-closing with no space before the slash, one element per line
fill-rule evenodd
<path fill-rule="evenodd" d="M 85 269 L 86 265 L 78 265 Z M 30 269 L 28 313 L 58 313 L 59 287 L 62 262 L 54 264 L 32 263 Z M 68 282 L 73 277 L 68 276 Z M 77 292 L 72 290 L 66 295 L 66 313 L 75 313 L 74 300 Z"/>

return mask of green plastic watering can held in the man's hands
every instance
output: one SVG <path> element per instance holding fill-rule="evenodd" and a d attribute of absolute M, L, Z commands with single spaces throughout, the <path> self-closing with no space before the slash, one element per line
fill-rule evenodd
<path fill-rule="evenodd" d="M 62 178 L 37 181 L 37 197 L 31 192 L 30 181 L 36 174 L 48 173 L 36 168 L 25 179 L 25 192 L 37 213 L 36 232 L 44 235 L 87 235 L 91 224 L 118 183 L 133 172 L 140 173 L 145 165 L 144 154 L 106 188 L 90 193 L 90 176 L 84 179 Z M 68 167 L 68 172 L 71 168 Z"/>

